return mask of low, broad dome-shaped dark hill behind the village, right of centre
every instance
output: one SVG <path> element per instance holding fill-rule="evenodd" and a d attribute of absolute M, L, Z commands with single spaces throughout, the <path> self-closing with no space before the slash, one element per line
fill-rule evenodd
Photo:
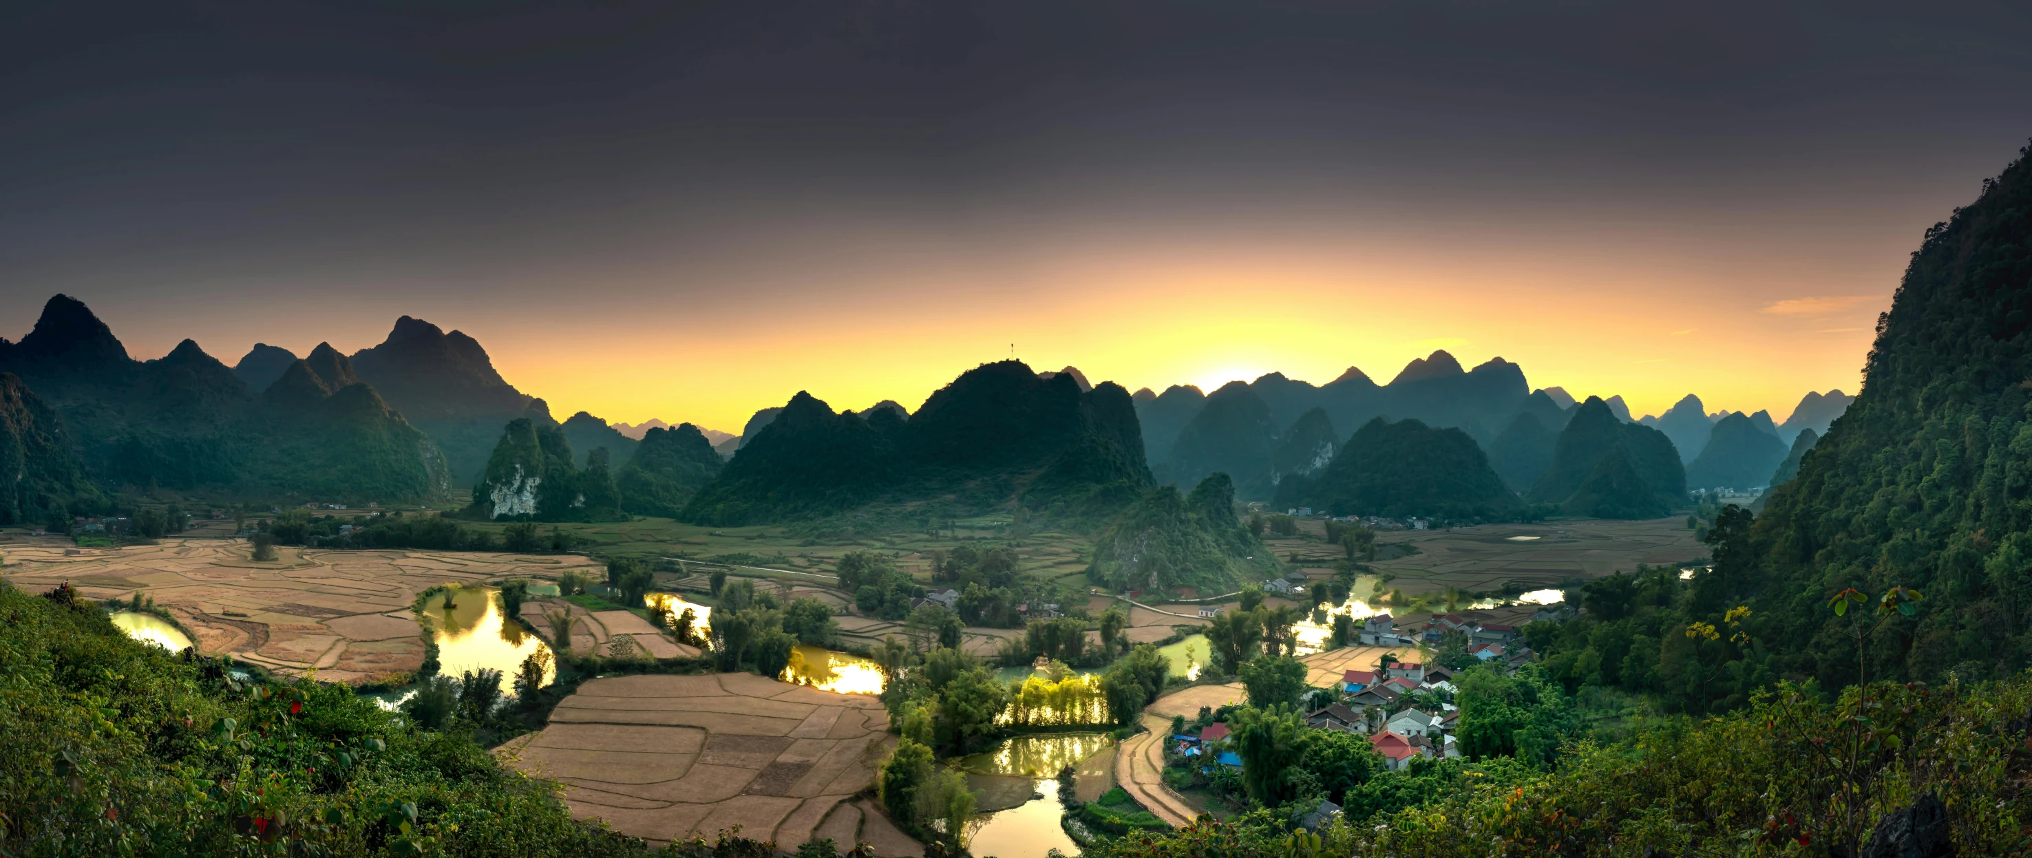
<path fill-rule="evenodd" d="M 1508 518 L 1522 506 L 1465 431 L 1382 417 L 1361 425 L 1317 476 L 1278 484 L 1278 504 L 1439 518 Z"/>

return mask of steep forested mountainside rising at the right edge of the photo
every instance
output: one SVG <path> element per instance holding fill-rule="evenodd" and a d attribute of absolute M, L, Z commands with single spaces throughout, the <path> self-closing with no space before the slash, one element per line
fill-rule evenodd
<path fill-rule="evenodd" d="M 1778 486 L 1735 588 L 1772 616 L 1778 671 L 1855 679 L 1825 602 L 1918 588 L 1867 649 L 1874 677 L 2032 665 L 2032 163 L 1926 230 L 1863 390 Z M 1762 581 L 1762 586 L 1758 584 Z"/>

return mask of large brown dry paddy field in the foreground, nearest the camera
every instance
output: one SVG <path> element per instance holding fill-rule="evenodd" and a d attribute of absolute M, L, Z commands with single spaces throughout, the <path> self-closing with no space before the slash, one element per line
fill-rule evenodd
<path fill-rule="evenodd" d="M 579 685 L 549 728 L 500 752 L 561 781 L 573 815 L 654 842 L 738 825 L 786 850 L 831 838 L 916 856 L 920 844 L 853 803 L 892 742 L 870 695 L 750 673 L 634 675 Z"/>

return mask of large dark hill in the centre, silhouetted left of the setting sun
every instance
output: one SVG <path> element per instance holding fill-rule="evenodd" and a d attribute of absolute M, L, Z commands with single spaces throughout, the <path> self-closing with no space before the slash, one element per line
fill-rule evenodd
<path fill-rule="evenodd" d="M 870 502 L 1020 504 L 1095 520 L 1150 486 L 1136 407 L 1120 384 L 1081 390 L 1016 360 L 981 364 L 914 413 L 833 413 L 799 392 L 685 506 L 701 525 L 817 518 Z"/>

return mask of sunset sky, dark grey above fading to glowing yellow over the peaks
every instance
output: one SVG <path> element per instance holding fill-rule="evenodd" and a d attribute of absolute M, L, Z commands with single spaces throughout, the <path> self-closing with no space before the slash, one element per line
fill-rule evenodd
<path fill-rule="evenodd" d="M 6 4 L 0 335 L 67 293 L 232 364 L 406 313 L 561 417 L 725 431 L 1012 354 L 1855 392 L 2032 136 L 2032 6 L 1652 6 Z"/>

